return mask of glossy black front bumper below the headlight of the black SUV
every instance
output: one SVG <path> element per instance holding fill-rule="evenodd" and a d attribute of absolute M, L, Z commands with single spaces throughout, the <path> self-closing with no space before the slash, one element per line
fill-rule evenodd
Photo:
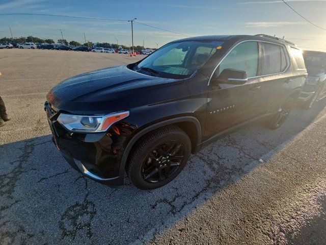
<path fill-rule="evenodd" d="M 72 133 L 59 124 L 59 113 L 45 103 L 53 143 L 66 161 L 83 175 L 109 186 L 123 185 L 121 158 L 129 125 L 117 122 L 105 133 Z"/>

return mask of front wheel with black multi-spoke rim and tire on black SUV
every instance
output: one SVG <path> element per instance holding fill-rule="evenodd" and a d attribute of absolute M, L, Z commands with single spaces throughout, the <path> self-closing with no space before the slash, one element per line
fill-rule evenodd
<path fill-rule="evenodd" d="M 140 189 L 155 189 L 176 178 L 191 154 L 188 135 L 177 126 L 158 129 L 140 140 L 131 152 L 127 174 Z"/>

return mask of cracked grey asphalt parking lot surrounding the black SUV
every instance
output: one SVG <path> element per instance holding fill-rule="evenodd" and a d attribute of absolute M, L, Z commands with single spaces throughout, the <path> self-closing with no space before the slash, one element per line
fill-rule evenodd
<path fill-rule="evenodd" d="M 325 105 L 252 125 L 193 155 L 168 185 L 111 189 L 73 170 L 43 103 L 65 78 L 144 56 L 0 50 L 0 244 L 324 244 Z"/>

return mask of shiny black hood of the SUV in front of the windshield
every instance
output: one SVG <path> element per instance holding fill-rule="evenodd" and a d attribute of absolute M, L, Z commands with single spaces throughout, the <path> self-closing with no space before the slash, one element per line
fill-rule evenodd
<path fill-rule="evenodd" d="M 179 80 L 152 77 L 127 68 L 126 65 L 103 68 L 66 79 L 46 95 L 52 109 L 87 114 L 94 108 L 107 108 L 107 112 L 124 110 L 130 94 L 142 93 Z M 130 105 L 131 106 L 131 105 Z"/>

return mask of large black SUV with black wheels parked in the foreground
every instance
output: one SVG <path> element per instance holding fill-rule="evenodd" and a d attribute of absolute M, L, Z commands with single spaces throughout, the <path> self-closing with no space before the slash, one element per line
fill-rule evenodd
<path fill-rule="evenodd" d="M 107 185 L 173 180 L 191 153 L 265 120 L 282 125 L 306 81 L 302 52 L 278 38 L 204 36 L 143 60 L 63 81 L 47 94 L 53 142 L 73 168 Z"/>

